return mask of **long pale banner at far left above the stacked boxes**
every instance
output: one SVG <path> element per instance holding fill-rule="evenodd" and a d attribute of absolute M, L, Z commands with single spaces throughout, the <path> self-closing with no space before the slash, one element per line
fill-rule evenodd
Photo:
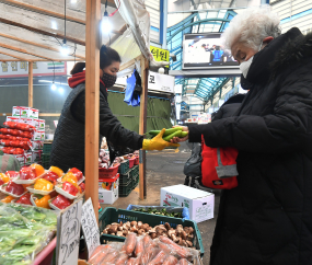
<path fill-rule="evenodd" d="M 67 62 L 37 61 L 33 64 L 33 74 L 37 76 L 65 76 L 67 74 Z M 24 78 L 28 77 L 27 61 L 0 62 L 0 78 Z"/>

